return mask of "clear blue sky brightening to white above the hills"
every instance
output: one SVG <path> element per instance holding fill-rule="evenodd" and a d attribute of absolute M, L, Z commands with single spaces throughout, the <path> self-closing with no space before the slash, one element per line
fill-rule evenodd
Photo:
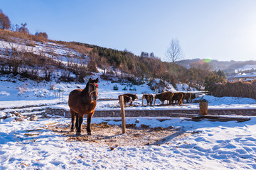
<path fill-rule="evenodd" d="M 135 55 L 166 60 L 171 39 L 184 59 L 256 60 L 255 0 L 0 0 L 12 24 Z"/>

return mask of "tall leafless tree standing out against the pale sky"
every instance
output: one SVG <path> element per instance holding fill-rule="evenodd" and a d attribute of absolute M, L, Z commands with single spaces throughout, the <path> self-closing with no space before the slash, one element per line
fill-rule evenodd
<path fill-rule="evenodd" d="M 173 65 L 173 79 L 174 79 L 174 62 L 177 60 L 182 59 L 183 55 L 181 52 L 181 46 L 179 45 L 179 42 L 177 39 L 171 40 L 170 46 L 166 50 L 166 57 L 168 60 L 170 60 Z"/>

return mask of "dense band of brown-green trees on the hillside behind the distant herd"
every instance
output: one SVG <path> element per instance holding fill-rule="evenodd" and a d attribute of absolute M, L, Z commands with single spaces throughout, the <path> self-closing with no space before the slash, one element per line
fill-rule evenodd
<path fill-rule="evenodd" d="M 88 54 L 90 60 L 104 70 L 104 74 L 112 69 L 118 69 L 122 77 L 139 77 L 140 79 L 161 79 L 168 81 L 176 86 L 176 83 L 186 83 L 190 86 L 201 89 L 207 79 L 213 79 L 212 74 L 217 74 L 206 62 L 196 62 L 191 64 L 191 68 L 186 69 L 176 62 L 162 62 L 159 57 L 154 55 L 154 52 L 142 52 L 141 55 L 134 55 L 128 50 L 113 50 L 97 45 L 89 45 L 81 42 L 70 42 L 75 45 L 90 47 L 92 50 Z M 176 57 L 176 56 L 174 56 Z M 171 59 L 170 59 L 171 60 Z M 221 70 L 223 77 L 225 73 Z M 223 81 L 223 79 L 215 79 L 213 81 Z"/>

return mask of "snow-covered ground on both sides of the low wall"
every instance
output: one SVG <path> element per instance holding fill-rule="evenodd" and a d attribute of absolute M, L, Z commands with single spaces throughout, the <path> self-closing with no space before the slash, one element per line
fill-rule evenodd
<path fill-rule="evenodd" d="M 99 98 L 115 99 L 119 94 L 128 92 L 136 93 L 141 98 L 142 93 L 153 93 L 146 84 L 133 86 L 137 91 L 122 91 L 125 85 L 120 84 L 117 84 L 119 90 L 114 91 L 114 85 L 100 80 Z M 85 84 L 54 84 L 54 90 L 50 90 L 50 86 L 53 83 L 38 84 L 1 77 L 0 108 L 4 110 L 0 112 L 0 117 L 6 115 L 4 112 L 8 109 L 22 106 L 43 108 L 50 105 L 68 109 L 69 92 L 84 88 Z M 59 89 L 63 94 L 59 93 Z M 198 99 L 202 97 L 208 100 L 209 108 L 256 108 L 256 101 L 251 98 L 200 96 Z M 141 105 L 142 101 L 135 103 Z M 96 110 L 119 109 L 117 106 L 119 104 L 115 100 L 97 101 Z M 190 109 L 198 108 L 198 103 L 127 109 L 142 108 Z M 186 118 L 166 118 L 164 121 L 157 118 L 127 118 L 127 124 L 135 123 L 137 127 L 142 124 L 150 128 L 173 126 L 177 131 L 166 136 L 161 145 L 116 147 L 87 141 L 69 142 L 67 136 L 46 129 L 47 125 L 54 123 L 69 124 L 70 119 L 24 119 L 20 122 L 15 121 L 15 117 L 11 115 L 10 118 L 0 119 L 0 169 L 256 169 L 256 117 L 250 117 L 251 120 L 243 123 L 193 122 Z M 114 118 L 108 119 L 108 124 L 120 124 Z M 104 121 L 104 118 L 92 118 L 92 123 Z M 115 135 L 114 138 L 118 143 L 119 137 L 125 135 Z"/>

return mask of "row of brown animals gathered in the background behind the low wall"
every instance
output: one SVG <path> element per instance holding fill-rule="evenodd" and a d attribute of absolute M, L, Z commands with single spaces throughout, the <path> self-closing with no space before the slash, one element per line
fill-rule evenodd
<path fill-rule="evenodd" d="M 138 99 L 137 94 L 122 94 L 119 95 L 118 98 L 120 98 L 120 96 L 124 96 L 124 104 L 129 103 L 129 106 L 132 106 L 132 101 L 135 101 L 136 99 Z M 153 101 L 154 101 L 154 105 L 156 103 L 156 99 L 159 99 L 159 101 L 161 101 L 161 104 L 164 105 L 165 101 L 167 101 L 167 104 L 174 104 L 177 103 L 178 105 L 181 105 L 184 103 L 184 100 L 186 100 L 186 103 L 188 102 L 192 102 L 192 100 L 194 98 L 196 98 L 195 94 L 192 93 L 183 93 L 183 92 L 171 92 L 171 91 L 165 91 L 162 92 L 161 94 L 156 94 L 155 96 L 153 94 L 143 94 L 142 96 L 142 104 L 143 104 L 143 99 L 146 99 L 147 102 L 147 106 L 153 106 Z"/>

